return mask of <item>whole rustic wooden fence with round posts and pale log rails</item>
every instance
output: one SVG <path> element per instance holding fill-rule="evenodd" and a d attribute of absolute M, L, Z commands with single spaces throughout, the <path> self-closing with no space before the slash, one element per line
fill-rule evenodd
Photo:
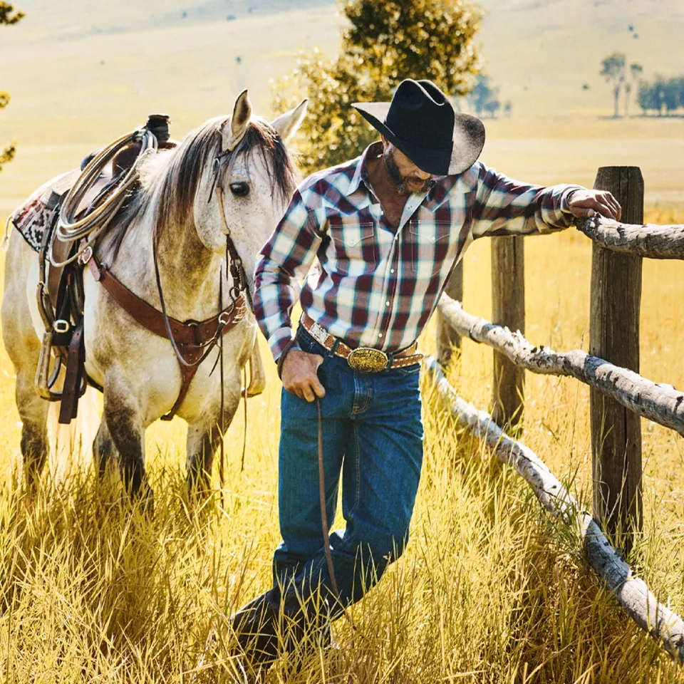
<path fill-rule="evenodd" d="M 576 525 L 587 560 L 641 628 L 684 663 L 684 621 L 633 576 L 608 539 L 629 551 L 643 526 L 641 417 L 684 436 L 684 393 L 639 375 L 641 259 L 684 259 L 684 226 L 643 225 L 643 178 L 638 167 L 602 167 L 596 189 L 622 206 L 623 223 L 595 218 L 578 222 L 591 238 L 589 353 L 556 352 L 524 338 L 522 237 L 492 239 L 492 318 L 462 309 L 463 271 L 454 271 L 439 304 L 437 360 L 428 359 L 435 388 L 452 415 L 514 467 L 546 509 Z M 492 415 L 457 396 L 440 364 L 461 338 L 494 349 Z M 534 453 L 513 437 L 522 432 L 525 371 L 565 375 L 589 385 L 593 516 Z M 512 432 L 512 437 L 502 430 Z M 600 525 L 606 529 L 603 534 Z"/>

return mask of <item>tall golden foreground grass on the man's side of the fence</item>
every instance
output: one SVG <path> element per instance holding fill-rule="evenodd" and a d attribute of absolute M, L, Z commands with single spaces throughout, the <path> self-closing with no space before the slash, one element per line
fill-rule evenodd
<path fill-rule="evenodd" d="M 338 648 L 296 674 L 284 660 L 268 681 L 684 681 L 584 568 L 569 533 L 425 397 L 408 551 L 353 608 L 356 630 L 336 623 Z M 187 502 L 176 455 L 160 454 L 154 517 L 90 472 L 35 499 L 5 484 L 2 680 L 239 681 L 227 616 L 269 581 L 268 460 L 252 452 L 243 475 L 232 463 L 224 502 L 200 505 Z M 653 565 L 666 549 L 648 547 Z"/>

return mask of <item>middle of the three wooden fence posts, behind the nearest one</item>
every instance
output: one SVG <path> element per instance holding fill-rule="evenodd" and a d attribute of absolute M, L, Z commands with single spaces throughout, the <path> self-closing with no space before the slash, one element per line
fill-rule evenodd
<path fill-rule="evenodd" d="M 525 332 L 524 238 L 494 237 L 492 244 L 492 322 Z M 524 408 L 524 368 L 494 352 L 492 416 L 500 427 L 520 429 Z"/>

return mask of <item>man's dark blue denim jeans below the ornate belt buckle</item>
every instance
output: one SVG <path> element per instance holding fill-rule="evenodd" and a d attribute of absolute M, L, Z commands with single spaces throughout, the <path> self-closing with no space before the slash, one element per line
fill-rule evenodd
<path fill-rule="evenodd" d="M 274 553 L 271 601 L 321 591 L 331 617 L 362 598 L 397 559 L 408 528 L 423 462 L 420 364 L 380 373 L 353 371 L 345 359 L 318 344 L 304 328 L 299 346 L 323 356 L 318 378 L 328 524 L 342 483 L 343 532 L 330 534 L 339 601 L 323 551 L 318 482 L 318 413 L 282 391 L 279 509 L 282 543 Z M 292 604 L 292 601 L 285 601 Z"/>

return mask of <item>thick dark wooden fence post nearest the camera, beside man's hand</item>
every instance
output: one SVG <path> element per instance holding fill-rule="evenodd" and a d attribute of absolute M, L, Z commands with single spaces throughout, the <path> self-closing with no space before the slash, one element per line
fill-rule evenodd
<path fill-rule="evenodd" d="M 638 167 L 601 167 L 594 187 L 613 193 L 622 221 L 643 223 L 643 177 Z M 594 243 L 591 253 L 589 353 L 639 372 L 641 257 L 616 254 Z M 641 422 L 635 413 L 591 389 L 594 518 L 606 523 L 629 551 L 641 532 Z"/>

